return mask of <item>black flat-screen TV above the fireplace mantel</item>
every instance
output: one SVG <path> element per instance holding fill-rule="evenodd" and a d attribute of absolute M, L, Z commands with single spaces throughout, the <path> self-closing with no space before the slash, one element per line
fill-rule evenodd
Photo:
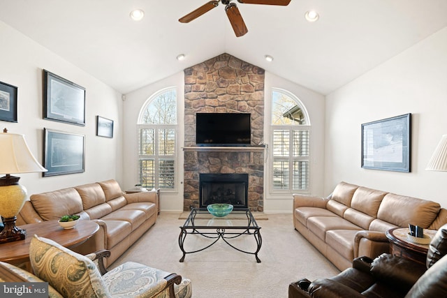
<path fill-rule="evenodd" d="M 197 113 L 196 143 L 198 145 L 250 144 L 249 113 Z"/>

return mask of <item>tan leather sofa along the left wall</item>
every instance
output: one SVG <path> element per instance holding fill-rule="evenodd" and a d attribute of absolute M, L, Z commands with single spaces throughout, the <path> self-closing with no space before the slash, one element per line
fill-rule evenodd
<path fill-rule="evenodd" d="M 105 266 L 109 266 L 154 225 L 158 201 L 156 191 L 125 194 L 112 179 L 31 195 L 17 216 L 17 225 L 58 220 L 65 214 L 96 221 L 98 232 L 73 251 L 87 254 L 108 249 Z"/>

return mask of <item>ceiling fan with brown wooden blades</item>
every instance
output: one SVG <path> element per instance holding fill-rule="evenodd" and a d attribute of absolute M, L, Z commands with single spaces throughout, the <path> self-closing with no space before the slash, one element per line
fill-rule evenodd
<path fill-rule="evenodd" d="M 207 13 L 208 11 L 217 7 L 219 5 L 219 2 L 221 2 L 222 4 L 226 5 L 225 12 L 226 15 L 228 16 L 228 20 L 230 20 L 231 27 L 233 27 L 236 36 L 237 37 L 243 36 L 249 30 L 245 26 L 244 19 L 242 19 L 242 16 L 239 13 L 239 9 L 237 8 L 236 3 L 232 3 L 231 1 L 233 0 L 209 1 L 205 3 L 203 6 L 197 8 L 196 10 L 191 11 L 191 13 L 188 13 L 184 17 L 180 17 L 179 22 L 189 23 L 192 20 L 195 20 L 197 17 L 200 17 L 200 15 L 203 15 L 204 13 Z M 247 4 L 286 6 L 288 5 L 288 3 L 291 2 L 291 0 L 237 0 L 237 2 Z"/>

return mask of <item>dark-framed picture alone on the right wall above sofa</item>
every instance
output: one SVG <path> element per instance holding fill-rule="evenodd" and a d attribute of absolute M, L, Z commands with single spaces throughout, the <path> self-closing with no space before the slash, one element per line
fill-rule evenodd
<path fill-rule="evenodd" d="M 411 114 L 362 124 L 362 167 L 410 172 Z"/>

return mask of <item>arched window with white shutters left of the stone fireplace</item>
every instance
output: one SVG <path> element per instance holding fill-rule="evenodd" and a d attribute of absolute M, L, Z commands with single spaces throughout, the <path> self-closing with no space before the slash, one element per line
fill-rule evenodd
<path fill-rule="evenodd" d="M 176 188 L 177 92 L 163 89 L 151 96 L 138 117 L 138 171 L 145 188 Z"/>

